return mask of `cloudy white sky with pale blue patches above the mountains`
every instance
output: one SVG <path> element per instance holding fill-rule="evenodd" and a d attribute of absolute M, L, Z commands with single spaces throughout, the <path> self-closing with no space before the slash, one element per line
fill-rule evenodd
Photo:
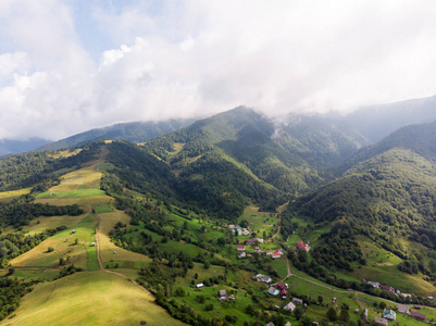
<path fill-rule="evenodd" d="M 0 139 L 436 93 L 436 1 L 1 0 Z"/>

